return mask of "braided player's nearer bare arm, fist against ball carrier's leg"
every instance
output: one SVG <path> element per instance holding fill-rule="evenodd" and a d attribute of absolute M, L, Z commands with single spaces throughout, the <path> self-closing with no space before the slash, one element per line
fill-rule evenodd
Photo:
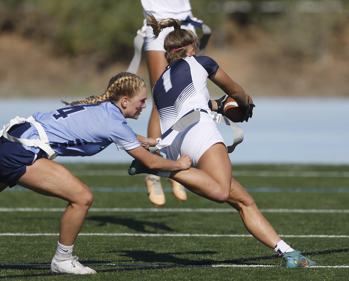
<path fill-rule="evenodd" d="M 177 161 L 171 161 L 150 153 L 142 146 L 126 150 L 126 152 L 144 166 L 155 171 L 184 171 L 189 169 L 192 164 L 192 159 L 187 155 L 182 155 Z"/>

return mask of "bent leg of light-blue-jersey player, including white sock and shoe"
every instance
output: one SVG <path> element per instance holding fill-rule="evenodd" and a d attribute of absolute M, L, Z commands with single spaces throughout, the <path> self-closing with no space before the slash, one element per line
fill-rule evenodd
<path fill-rule="evenodd" d="M 17 184 L 68 202 L 61 218 L 58 247 L 51 263 L 51 271 L 73 274 L 96 273 L 89 267 L 83 267 L 77 261 L 77 257 L 72 255 L 74 241 L 93 201 L 89 188 L 66 168 L 45 158 L 27 166 L 27 171 Z"/>

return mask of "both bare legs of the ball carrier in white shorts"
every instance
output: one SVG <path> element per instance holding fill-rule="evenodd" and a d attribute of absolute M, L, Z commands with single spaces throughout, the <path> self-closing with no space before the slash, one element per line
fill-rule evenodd
<path fill-rule="evenodd" d="M 172 172 L 171 177 L 202 197 L 230 204 L 238 210 L 247 230 L 261 243 L 274 248 L 281 238 L 253 198 L 231 177 L 231 163 L 225 146 L 222 143 L 211 146 L 202 154 L 198 169 Z"/>

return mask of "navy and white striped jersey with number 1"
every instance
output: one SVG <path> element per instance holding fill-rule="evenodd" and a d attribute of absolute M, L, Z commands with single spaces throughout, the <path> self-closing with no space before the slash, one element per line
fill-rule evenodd
<path fill-rule="evenodd" d="M 215 74 L 218 67 L 210 57 L 195 55 L 176 59 L 166 67 L 153 88 L 162 134 L 194 108 L 210 113 L 207 78 Z"/>

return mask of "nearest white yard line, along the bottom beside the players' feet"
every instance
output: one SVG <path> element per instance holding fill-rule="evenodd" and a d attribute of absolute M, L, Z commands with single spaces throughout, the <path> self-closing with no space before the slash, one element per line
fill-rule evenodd
<path fill-rule="evenodd" d="M 86 264 L 84 266 L 124 266 L 124 267 L 284 267 L 281 265 L 173 265 L 173 264 Z M 0 266 L 51 266 L 49 263 L 45 264 L 0 264 Z M 349 265 L 316 265 L 309 268 L 349 268 Z"/>

